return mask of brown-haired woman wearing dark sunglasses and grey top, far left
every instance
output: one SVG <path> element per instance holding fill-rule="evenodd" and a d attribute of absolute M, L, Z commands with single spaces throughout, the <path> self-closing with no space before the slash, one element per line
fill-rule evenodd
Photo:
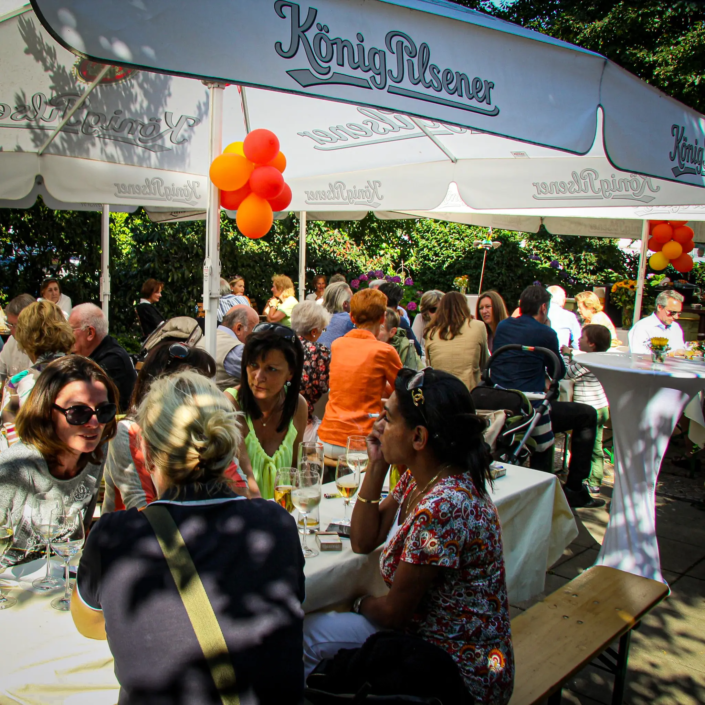
<path fill-rule="evenodd" d="M 67 355 L 39 375 L 17 415 L 20 440 L 0 453 L 0 509 L 10 510 L 18 527 L 5 554 L 10 565 L 43 552 L 45 542 L 30 521 L 35 494 L 51 493 L 90 525 L 117 401 L 113 382 L 86 357 Z"/>

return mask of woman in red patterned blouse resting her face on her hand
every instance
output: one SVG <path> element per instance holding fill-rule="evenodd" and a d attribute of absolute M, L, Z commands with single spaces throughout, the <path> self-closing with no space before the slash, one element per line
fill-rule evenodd
<path fill-rule="evenodd" d="M 356 553 L 384 546 L 380 570 L 390 591 L 359 597 L 351 613 L 307 617 L 306 672 L 342 645 L 396 630 L 450 654 L 474 702 L 504 705 L 514 660 L 485 422 L 467 387 L 446 372 L 405 368 L 394 389 L 368 436 L 350 534 Z M 382 499 L 390 464 L 409 469 Z"/>

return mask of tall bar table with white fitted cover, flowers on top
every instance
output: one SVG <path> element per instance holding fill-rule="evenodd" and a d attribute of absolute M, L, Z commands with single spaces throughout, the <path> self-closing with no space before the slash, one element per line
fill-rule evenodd
<path fill-rule="evenodd" d="M 705 365 L 630 353 L 589 353 L 580 362 L 604 387 L 614 433 L 614 494 L 597 563 L 665 582 L 656 479 L 683 409 L 705 388 Z"/>

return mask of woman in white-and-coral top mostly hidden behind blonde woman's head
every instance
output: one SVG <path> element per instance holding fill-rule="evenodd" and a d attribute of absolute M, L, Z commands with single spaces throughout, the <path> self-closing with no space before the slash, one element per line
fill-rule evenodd
<path fill-rule="evenodd" d="M 130 408 L 117 426 L 117 434 L 108 447 L 105 462 L 105 499 L 103 512 L 146 507 L 157 498 L 157 491 L 144 462 L 142 434 L 135 420 L 137 409 L 155 380 L 183 370 L 195 370 L 204 377 L 215 377 L 215 360 L 204 350 L 183 343 L 163 342 L 147 356 L 137 375 Z M 239 494 L 247 494 L 248 484 L 231 464 L 226 477 Z M 252 479 L 250 490 L 258 496 Z"/>

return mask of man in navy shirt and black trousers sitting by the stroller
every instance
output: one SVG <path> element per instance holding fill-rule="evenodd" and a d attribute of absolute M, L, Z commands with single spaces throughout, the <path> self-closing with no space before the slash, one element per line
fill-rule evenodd
<path fill-rule="evenodd" d="M 542 286 L 529 286 L 521 294 L 518 318 L 500 321 L 494 336 L 494 355 L 504 345 L 518 344 L 547 348 L 558 358 L 557 377 L 565 375 L 565 364 L 558 349 L 558 336 L 547 325 L 551 295 Z M 544 392 L 546 369 L 553 373 L 553 361 L 544 353 L 510 350 L 492 364 L 492 383 L 522 392 Z M 592 449 L 595 445 L 597 413 L 587 404 L 551 402 L 551 426 L 554 433 L 572 431 L 568 480 L 563 488 L 571 507 L 601 507 L 605 501 L 590 496 L 583 482 L 590 475 Z M 551 448 L 536 452 L 531 467 L 552 472 Z"/>

